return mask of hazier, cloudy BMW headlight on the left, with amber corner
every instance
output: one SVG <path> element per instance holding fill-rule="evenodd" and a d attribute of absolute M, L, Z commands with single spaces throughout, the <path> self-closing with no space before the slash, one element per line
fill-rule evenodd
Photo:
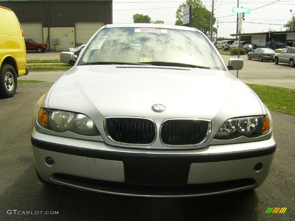
<path fill-rule="evenodd" d="M 37 121 L 40 126 L 55 132 L 72 131 L 86 136 L 100 135 L 94 122 L 81 113 L 40 108 Z"/>

